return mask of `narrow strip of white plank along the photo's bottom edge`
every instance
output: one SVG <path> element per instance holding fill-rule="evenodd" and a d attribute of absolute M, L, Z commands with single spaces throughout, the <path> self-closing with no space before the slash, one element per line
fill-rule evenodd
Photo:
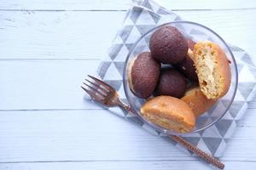
<path fill-rule="evenodd" d="M 255 161 L 224 161 L 225 170 L 253 170 L 256 168 Z M 212 170 L 211 166 L 198 161 L 86 161 L 86 162 L 38 162 L 38 163 L 9 163 L 0 164 L 0 169 L 22 169 L 22 170 Z"/>

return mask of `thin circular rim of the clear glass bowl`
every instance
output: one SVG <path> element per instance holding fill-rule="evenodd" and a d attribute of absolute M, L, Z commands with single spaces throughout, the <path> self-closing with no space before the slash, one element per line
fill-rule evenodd
<path fill-rule="evenodd" d="M 235 81 L 235 92 L 232 94 L 232 97 L 230 99 L 230 104 L 226 106 L 226 109 L 224 111 L 224 113 L 221 115 L 221 116 L 218 116 L 218 118 L 216 118 L 214 121 L 212 121 L 211 123 L 209 123 L 207 126 L 205 127 L 201 127 L 199 129 L 196 129 L 196 130 L 193 130 L 192 132 L 189 132 L 189 133 L 177 133 L 175 131 L 172 131 L 172 130 L 168 130 L 168 129 L 165 129 L 164 127 L 160 127 L 156 124 L 154 124 L 153 122 L 149 122 L 148 120 L 146 120 L 145 118 L 143 118 L 143 116 L 140 116 L 138 113 L 137 113 L 137 110 L 134 108 L 134 106 L 132 105 L 132 102 L 131 102 L 131 98 L 129 97 L 128 95 L 128 92 L 126 89 L 128 89 L 129 87 L 127 87 L 127 84 L 125 82 L 125 79 L 126 79 L 126 70 L 127 70 L 127 66 L 128 66 L 128 60 L 130 59 L 130 56 L 131 56 L 131 52 L 134 50 L 134 48 L 136 48 L 137 46 L 137 43 L 140 42 L 143 37 L 147 36 L 148 33 L 160 28 L 161 26 L 167 26 L 167 25 L 172 25 L 172 24 L 176 24 L 176 23 L 181 23 L 181 24 L 190 24 L 190 25 L 195 25 L 195 26 L 201 26 L 202 28 L 204 29 L 207 29 L 208 31 L 211 31 L 216 37 L 218 37 L 218 39 L 224 43 L 224 46 L 227 48 L 227 51 L 228 53 L 230 53 L 230 56 L 231 58 L 233 59 L 233 62 L 234 62 L 234 67 L 235 67 L 235 78 L 236 78 L 236 81 Z M 238 86 L 238 71 L 237 71 L 237 65 L 236 65 L 236 59 L 232 53 L 232 51 L 230 50 L 230 47 L 228 46 L 228 44 L 224 41 L 224 39 L 222 37 L 220 37 L 218 35 L 218 33 L 216 33 L 215 31 L 212 31 L 212 29 L 208 28 L 207 26 L 203 26 L 201 24 L 198 24 L 196 22 L 192 22 L 192 21 L 185 21 L 185 20 L 178 20 L 178 21 L 172 21 L 172 22 L 167 22 L 165 24 L 162 24 L 160 26 L 155 26 L 154 28 L 150 29 L 149 31 L 147 31 L 146 33 L 143 34 L 143 36 L 139 37 L 137 39 L 136 42 L 133 43 L 131 49 L 129 50 L 129 53 L 127 54 L 126 56 L 126 59 L 125 59 L 125 65 L 124 65 L 124 68 L 123 68 L 123 85 L 124 85 L 124 91 L 125 91 L 125 97 L 129 103 L 129 105 L 131 105 L 131 108 L 133 111 L 135 111 L 136 115 L 137 115 L 137 118 L 139 118 L 143 123 L 146 123 L 147 125 L 149 125 L 149 127 L 153 127 L 154 130 L 156 130 L 158 133 L 163 133 L 163 134 L 166 134 L 166 135 L 186 135 L 186 134 L 192 134 L 192 133 L 198 133 L 198 132 L 201 132 L 203 130 L 206 130 L 207 128 L 209 127 L 212 127 L 212 125 L 214 125 L 216 122 L 218 122 L 225 114 L 227 111 L 229 111 L 230 109 L 230 106 L 232 105 L 235 97 L 236 97 L 236 91 L 237 91 L 237 86 Z"/>

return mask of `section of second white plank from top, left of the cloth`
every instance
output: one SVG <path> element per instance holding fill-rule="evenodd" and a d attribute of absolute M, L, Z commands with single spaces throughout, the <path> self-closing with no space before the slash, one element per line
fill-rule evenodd
<path fill-rule="evenodd" d="M 125 12 L 2 11 L 0 58 L 102 58 L 124 16 Z"/>

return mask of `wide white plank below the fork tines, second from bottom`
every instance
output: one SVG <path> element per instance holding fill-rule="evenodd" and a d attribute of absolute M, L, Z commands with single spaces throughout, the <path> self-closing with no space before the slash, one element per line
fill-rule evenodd
<path fill-rule="evenodd" d="M 170 139 L 161 139 L 104 110 L 1 111 L 0 117 L 2 163 L 197 160 L 173 146 Z M 238 127 L 221 159 L 256 161 L 254 132 L 255 125 Z"/>

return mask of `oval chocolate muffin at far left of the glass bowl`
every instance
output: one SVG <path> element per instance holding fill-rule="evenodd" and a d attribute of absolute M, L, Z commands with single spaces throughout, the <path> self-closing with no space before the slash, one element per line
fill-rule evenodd
<path fill-rule="evenodd" d="M 154 93 L 160 77 L 160 63 L 149 52 L 138 54 L 128 66 L 128 82 L 131 92 L 146 99 Z"/>

